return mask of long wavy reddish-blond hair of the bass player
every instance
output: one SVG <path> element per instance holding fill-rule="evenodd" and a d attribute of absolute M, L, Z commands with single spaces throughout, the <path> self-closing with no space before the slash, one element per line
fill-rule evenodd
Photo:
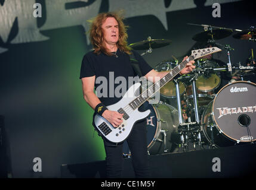
<path fill-rule="evenodd" d="M 107 50 L 106 46 L 103 43 L 104 34 L 101 28 L 104 21 L 109 17 L 115 18 L 116 21 L 118 22 L 119 40 L 116 43 L 118 49 L 121 50 L 121 52 L 131 54 L 131 47 L 129 47 L 127 43 L 128 26 L 125 26 L 123 22 L 124 17 L 122 17 L 121 14 L 118 14 L 116 12 L 103 12 L 98 14 L 97 17 L 90 20 L 91 27 L 89 32 L 90 32 L 91 44 L 92 46 L 94 46 L 94 53 L 99 54 L 100 52 L 103 52 L 103 53 L 106 53 L 107 55 L 113 55 L 111 52 Z"/>

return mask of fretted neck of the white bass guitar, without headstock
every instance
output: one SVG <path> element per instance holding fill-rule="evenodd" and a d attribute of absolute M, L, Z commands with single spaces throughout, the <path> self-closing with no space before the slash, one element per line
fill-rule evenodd
<path fill-rule="evenodd" d="M 132 109 L 137 109 L 141 105 L 143 105 L 144 102 L 146 102 L 150 97 L 152 97 L 157 91 L 160 90 L 166 83 L 172 80 L 181 70 L 183 70 L 187 63 L 189 61 L 194 60 L 194 57 L 192 55 L 189 56 L 185 61 L 181 62 L 177 66 L 175 66 L 174 69 L 172 69 L 171 72 L 166 74 L 161 80 L 151 85 L 147 90 L 143 91 L 143 93 L 140 94 L 137 98 L 132 100 L 132 102 L 129 103 L 129 106 L 132 107 Z"/>

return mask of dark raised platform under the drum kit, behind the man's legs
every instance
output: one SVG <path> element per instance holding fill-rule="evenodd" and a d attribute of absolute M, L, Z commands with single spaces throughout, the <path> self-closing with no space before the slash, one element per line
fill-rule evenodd
<path fill-rule="evenodd" d="M 152 178 L 247 178 L 256 172 L 256 144 L 149 156 Z M 123 178 L 134 178 L 131 159 Z M 106 178 L 105 161 L 63 164 L 61 178 Z"/>

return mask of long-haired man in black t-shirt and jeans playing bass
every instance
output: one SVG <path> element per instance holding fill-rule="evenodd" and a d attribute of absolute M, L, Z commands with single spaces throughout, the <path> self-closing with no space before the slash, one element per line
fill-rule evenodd
<path fill-rule="evenodd" d="M 100 13 L 92 20 L 90 29 L 90 40 L 94 46 L 94 50 L 88 52 L 81 66 L 80 78 L 82 80 L 82 89 L 84 99 L 92 107 L 92 109 L 100 110 L 97 112 L 103 118 L 107 119 L 113 127 L 122 124 L 122 116 L 119 112 L 108 110 L 106 106 L 113 105 L 121 100 L 122 97 L 116 96 L 117 77 L 123 77 L 126 81 L 129 77 L 135 77 L 137 74 L 131 66 L 129 55 L 133 54 L 138 61 L 141 73 L 147 80 L 155 81 L 161 79 L 169 72 L 157 72 L 147 64 L 146 61 L 127 44 L 127 26 L 123 22 L 123 18 L 115 12 Z M 184 59 L 187 59 L 185 57 Z M 194 61 L 190 61 L 186 68 L 180 74 L 186 74 L 192 71 L 195 66 Z M 98 80 L 106 78 L 106 86 L 102 87 Z M 113 84 L 113 81 L 115 83 Z M 120 82 L 120 81 L 119 81 Z M 94 93 L 96 88 L 97 95 L 102 94 L 105 90 L 107 96 L 98 97 Z M 128 85 L 126 90 L 128 90 Z M 122 92 L 122 94 L 124 94 Z M 98 109 L 100 108 L 100 109 Z M 144 109 L 143 105 L 139 107 Z M 149 164 L 147 160 L 147 137 L 146 137 L 146 119 L 138 121 L 132 128 L 131 134 L 127 138 L 129 149 L 132 154 L 132 165 L 134 167 L 135 176 L 137 178 L 148 178 Z M 108 178 L 121 178 L 122 176 L 122 145 L 123 143 L 114 144 L 103 137 L 104 148 L 106 151 L 106 171 Z"/>

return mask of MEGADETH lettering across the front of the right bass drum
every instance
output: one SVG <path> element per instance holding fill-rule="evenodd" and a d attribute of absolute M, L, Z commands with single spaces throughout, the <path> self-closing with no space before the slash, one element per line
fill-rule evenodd
<path fill-rule="evenodd" d="M 221 108 L 216 108 L 216 109 L 219 110 L 219 113 L 220 113 L 220 115 L 218 116 L 218 119 L 219 119 L 225 115 L 256 112 L 256 105 L 255 106 L 247 106 L 247 107 L 221 107 Z"/>

